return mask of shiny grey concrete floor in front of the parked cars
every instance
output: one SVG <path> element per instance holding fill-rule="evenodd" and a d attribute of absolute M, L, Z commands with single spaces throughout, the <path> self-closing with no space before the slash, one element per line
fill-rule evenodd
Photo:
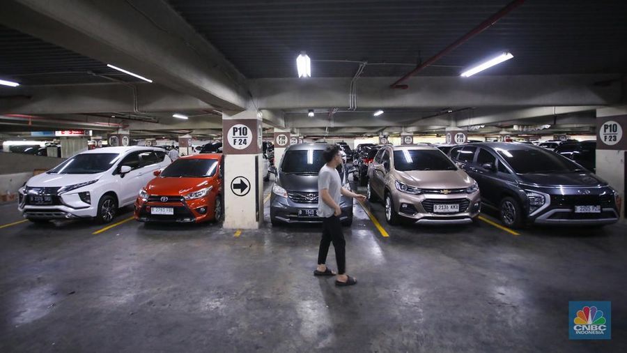
<path fill-rule="evenodd" d="M 371 208 L 389 237 L 355 206 L 348 288 L 312 276 L 311 226 L 5 227 L 0 352 L 627 351 L 626 226 L 513 236 L 389 227 Z M 16 220 L 0 206 L 0 225 Z M 612 340 L 568 340 L 569 300 L 612 301 Z"/>

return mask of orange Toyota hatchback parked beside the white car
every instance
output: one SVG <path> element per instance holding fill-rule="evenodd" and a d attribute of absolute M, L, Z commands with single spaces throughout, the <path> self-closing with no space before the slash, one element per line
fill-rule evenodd
<path fill-rule="evenodd" d="M 200 223 L 222 220 L 222 154 L 178 158 L 141 189 L 135 202 L 140 222 Z"/>

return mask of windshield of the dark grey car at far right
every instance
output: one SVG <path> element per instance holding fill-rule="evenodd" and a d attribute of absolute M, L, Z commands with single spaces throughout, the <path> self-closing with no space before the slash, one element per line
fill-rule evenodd
<path fill-rule="evenodd" d="M 582 169 L 557 153 L 544 149 L 496 149 L 517 174 L 567 173 Z"/>

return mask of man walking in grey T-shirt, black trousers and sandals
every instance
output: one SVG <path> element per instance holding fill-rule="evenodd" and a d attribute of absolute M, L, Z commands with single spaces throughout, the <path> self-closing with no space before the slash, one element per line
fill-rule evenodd
<path fill-rule="evenodd" d="M 344 234 L 339 216 L 342 211 L 339 203 L 341 195 L 353 197 L 357 200 L 366 200 L 364 195 L 352 193 L 342 187 L 342 181 L 336 167 L 342 164 L 342 157 L 339 147 L 334 144 L 327 147 L 323 152 L 323 158 L 326 162 L 320 173 L 318 174 L 318 216 L 323 218 L 323 236 L 320 240 L 320 249 L 318 250 L 318 267 L 314 271 L 315 276 L 334 276 L 334 271 L 327 268 L 327 253 L 329 246 L 333 243 L 335 249 L 335 260 L 337 262 L 337 278 L 335 285 L 347 286 L 355 285 L 357 280 L 348 276 L 346 271 L 346 250 L 344 246 Z"/>

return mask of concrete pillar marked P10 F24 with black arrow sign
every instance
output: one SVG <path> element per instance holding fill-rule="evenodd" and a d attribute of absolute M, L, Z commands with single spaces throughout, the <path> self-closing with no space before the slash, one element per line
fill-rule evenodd
<path fill-rule="evenodd" d="M 261 128 L 254 111 L 222 112 L 224 228 L 257 229 L 263 222 Z"/>

